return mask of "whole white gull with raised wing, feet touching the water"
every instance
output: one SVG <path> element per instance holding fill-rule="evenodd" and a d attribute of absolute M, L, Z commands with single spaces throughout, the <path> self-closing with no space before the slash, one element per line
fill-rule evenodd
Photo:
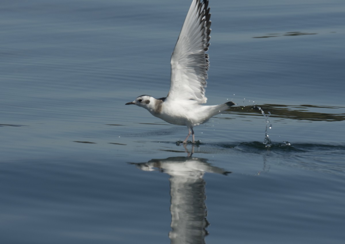
<path fill-rule="evenodd" d="M 187 143 L 190 134 L 193 141 L 193 126 L 205 123 L 212 116 L 219 114 L 233 102 L 220 105 L 201 105 L 206 103 L 205 96 L 209 57 L 206 54 L 210 45 L 210 8 L 208 0 L 193 0 L 185 22 L 171 55 L 170 90 L 165 98 L 149 95 L 138 96 L 133 102 L 147 109 L 152 115 L 176 125 L 185 125 L 188 135 L 183 141 Z"/>

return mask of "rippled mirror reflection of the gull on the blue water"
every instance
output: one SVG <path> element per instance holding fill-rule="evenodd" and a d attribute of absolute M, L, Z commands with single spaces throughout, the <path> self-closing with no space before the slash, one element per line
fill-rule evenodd
<path fill-rule="evenodd" d="M 231 172 L 212 166 L 207 159 L 191 156 L 132 164 L 144 171 L 159 170 L 170 175 L 171 244 L 205 243 L 209 222 L 206 219 L 206 183 L 203 176 L 205 172 L 223 175 Z"/>

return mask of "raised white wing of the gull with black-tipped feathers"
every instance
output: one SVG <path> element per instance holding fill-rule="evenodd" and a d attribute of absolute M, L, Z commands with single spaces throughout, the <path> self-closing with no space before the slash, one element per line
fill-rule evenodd
<path fill-rule="evenodd" d="M 205 96 L 210 45 L 208 0 L 193 0 L 171 55 L 170 90 L 167 100 L 206 103 Z"/>

